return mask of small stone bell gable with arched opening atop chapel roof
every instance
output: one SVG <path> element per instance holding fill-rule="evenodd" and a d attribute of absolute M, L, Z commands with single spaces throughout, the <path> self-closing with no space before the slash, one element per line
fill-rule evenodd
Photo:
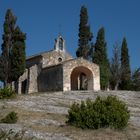
<path fill-rule="evenodd" d="M 65 52 L 65 40 L 64 40 L 64 38 L 61 35 L 59 35 L 58 38 L 55 39 L 54 49 L 56 51 Z"/>

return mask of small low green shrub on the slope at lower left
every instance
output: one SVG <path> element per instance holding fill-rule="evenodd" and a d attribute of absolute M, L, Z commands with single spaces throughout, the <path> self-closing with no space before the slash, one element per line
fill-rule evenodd
<path fill-rule="evenodd" d="M 1 119 L 2 123 L 16 123 L 18 120 L 17 113 L 14 111 L 10 112 L 7 116 Z"/>

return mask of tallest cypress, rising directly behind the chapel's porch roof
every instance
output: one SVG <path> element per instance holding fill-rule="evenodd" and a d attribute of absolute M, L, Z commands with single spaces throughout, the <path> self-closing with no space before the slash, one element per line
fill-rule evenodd
<path fill-rule="evenodd" d="M 90 26 L 88 25 L 88 12 L 85 6 L 82 6 L 80 11 L 80 24 L 78 36 L 79 48 L 76 51 L 76 56 L 88 59 L 90 42 L 93 38 L 93 35 L 90 31 Z"/>

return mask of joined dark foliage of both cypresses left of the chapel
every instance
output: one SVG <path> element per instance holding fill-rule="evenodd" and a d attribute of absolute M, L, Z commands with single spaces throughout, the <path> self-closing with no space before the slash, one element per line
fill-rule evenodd
<path fill-rule="evenodd" d="M 25 70 L 25 34 L 16 27 L 16 17 L 10 9 L 3 25 L 2 53 L 0 55 L 0 80 L 9 86 Z"/>

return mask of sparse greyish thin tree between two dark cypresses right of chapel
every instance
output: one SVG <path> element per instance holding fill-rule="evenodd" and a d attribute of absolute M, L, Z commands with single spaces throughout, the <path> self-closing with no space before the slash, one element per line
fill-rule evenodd
<path fill-rule="evenodd" d="M 110 63 L 110 88 L 118 89 L 121 77 L 120 48 L 118 43 L 114 45 L 113 57 Z"/>

